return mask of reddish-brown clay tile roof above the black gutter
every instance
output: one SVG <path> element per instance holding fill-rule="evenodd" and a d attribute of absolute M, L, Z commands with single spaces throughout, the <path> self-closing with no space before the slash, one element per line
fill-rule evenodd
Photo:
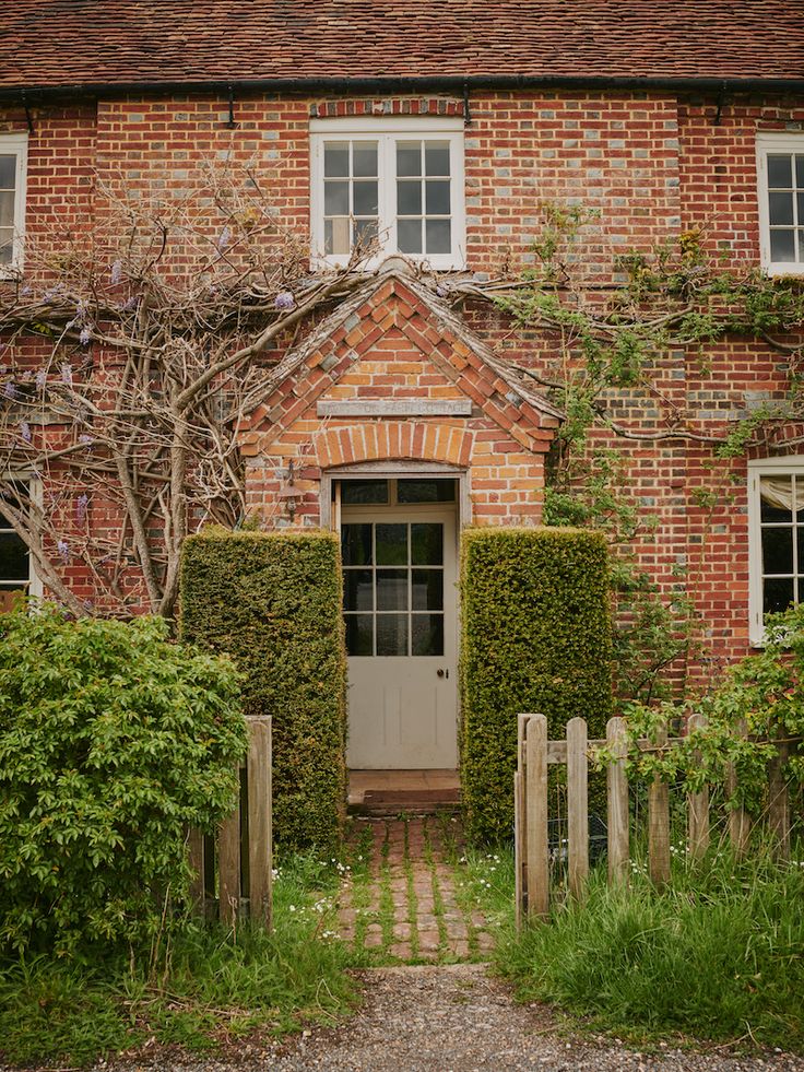
<path fill-rule="evenodd" d="M 0 90 L 804 79 L 802 0 L 2 0 Z"/>

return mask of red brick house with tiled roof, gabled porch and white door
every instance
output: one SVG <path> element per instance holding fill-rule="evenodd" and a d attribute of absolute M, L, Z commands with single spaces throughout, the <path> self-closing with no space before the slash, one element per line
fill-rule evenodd
<path fill-rule="evenodd" d="M 453 767 L 457 532 L 540 522 L 563 414 L 522 373 L 551 341 L 450 302 L 449 280 L 527 269 L 547 201 L 600 210 L 578 252 L 590 290 L 612 254 L 701 224 L 728 263 L 804 272 L 799 5 L 19 0 L 0 30 L 0 286 L 24 235 L 87 225 L 97 181 L 184 188 L 221 154 L 256 161 L 319 270 L 379 232 L 374 275 L 274 354 L 243 414 L 245 496 L 267 527 L 343 533 L 351 765 Z M 15 340 L 15 360 L 37 345 Z M 620 423 L 661 429 L 672 410 L 722 433 L 788 390 L 762 342 L 718 342 L 706 374 L 698 357 L 660 368 Z M 733 460 L 714 505 L 710 444 L 623 448 L 659 518 L 640 562 L 667 597 L 686 588 L 725 660 L 804 598 L 794 439 Z M 35 479 L 3 457 L 7 481 Z M 40 590 L 2 526 L 0 588 Z"/>

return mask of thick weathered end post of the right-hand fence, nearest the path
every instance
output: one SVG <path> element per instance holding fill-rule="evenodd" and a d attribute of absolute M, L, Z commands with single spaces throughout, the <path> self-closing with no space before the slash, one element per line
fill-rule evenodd
<path fill-rule="evenodd" d="M 531 715 L 525 729 L 525 861 L 528 915 L 545 918 L 549 911 L 547 847 L 547 719 Z"/>

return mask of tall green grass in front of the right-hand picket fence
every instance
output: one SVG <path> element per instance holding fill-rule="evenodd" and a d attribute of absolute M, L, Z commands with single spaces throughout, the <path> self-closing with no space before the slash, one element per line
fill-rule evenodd
<path fill-rule="evenodd" d="M 523 1000 L 553 1002 L 598 1029 L 746 1039 L 804 1048 L 804 864 L 767 851 L 737 862 L 725 849 L 694 863 L 676 847 L 659 894 L 645 867 L 608 888 L 605 864 L 586 904 L 516 935 L 497 965 Z"/>

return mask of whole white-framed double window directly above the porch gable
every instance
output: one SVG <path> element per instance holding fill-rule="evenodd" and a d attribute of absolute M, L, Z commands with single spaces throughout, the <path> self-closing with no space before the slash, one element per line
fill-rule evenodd
<path fill-rule="evenodd" d="M 431 268 L 464 267 L 463 120 L 310 121 L 314 260 L 342 266 L 376 239 Z"/>

